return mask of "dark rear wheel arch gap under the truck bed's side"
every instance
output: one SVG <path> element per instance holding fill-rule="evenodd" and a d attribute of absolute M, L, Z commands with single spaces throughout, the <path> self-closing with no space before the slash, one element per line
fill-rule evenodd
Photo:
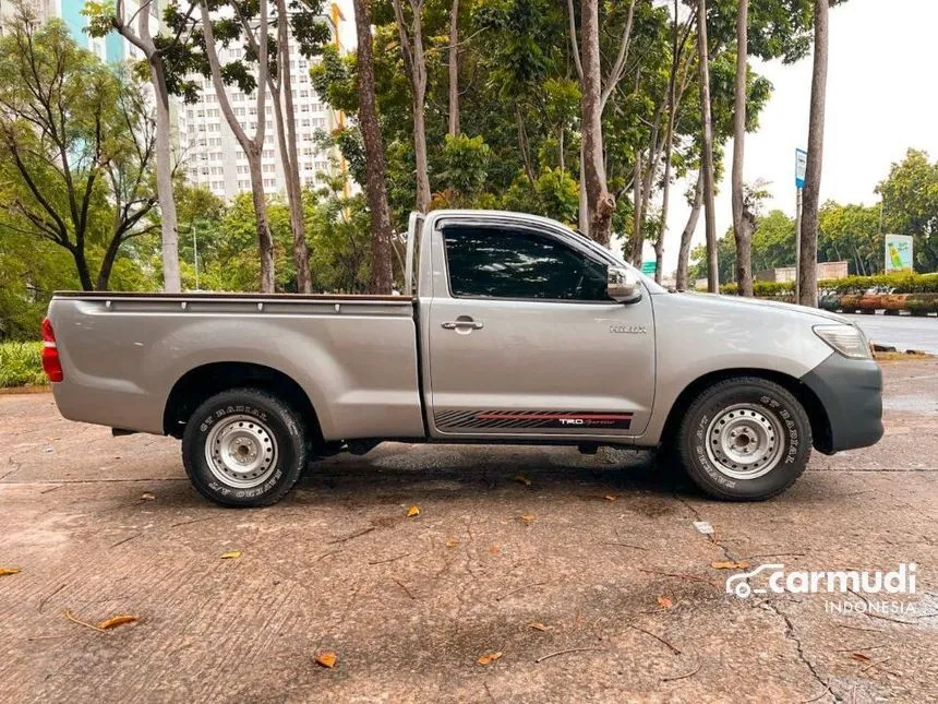
<path fill-rule="evenodd" d="M 275 394 L 302 415 L 314 443 L 323 434 L 316 410 L 309 395 L 291 377 L 265 365 L 243 361 L 218 361 L 190 369 L 173 384 L 163 414 L 163 429 L 181 438 L 192 411 L 206 398 L 238 387 L 262 389 Z"/>

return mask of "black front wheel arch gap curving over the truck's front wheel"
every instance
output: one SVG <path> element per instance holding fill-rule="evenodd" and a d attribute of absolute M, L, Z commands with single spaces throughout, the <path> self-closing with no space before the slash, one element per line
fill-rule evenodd
<path fill-rule="evenodd" d="M 711 371 L 698 377 L 687 384 L 677 395 L 677 398 L 674 399 L 671 410 L 668 413 L 668 419 L 664 421 L 664 428 L 661 432 L 662 444 L 671 443 L 673 441 L 681 425 L 684 410 L 688 405 L 690 405 L 694 398 L 721 381 L 738 377 L 757 377 L 759 379 L 772 381 L 790 392 L 805 409 L 808 420 L 810 420 L 811 437 L 815 449 L 823 453 L 828 453 L 830 451 L 830 448 L 832 446 L 830 419 L 828 418 L 827 410 L 825 409 L 820 398 L 817 397 L 815 392 L 811 391 L 807 384 L 780 371 L 750 369 L 745 367 Z"/>

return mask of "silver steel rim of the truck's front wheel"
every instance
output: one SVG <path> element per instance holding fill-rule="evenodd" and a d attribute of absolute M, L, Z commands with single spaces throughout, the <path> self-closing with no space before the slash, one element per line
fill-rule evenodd
<path fill-rule="evenodd" d="M 783 445 L 781 420 L 762 406 L 730 406 L 707 427 L 707 457 L 733 479 L 769 474 L 781 462 Z"/>

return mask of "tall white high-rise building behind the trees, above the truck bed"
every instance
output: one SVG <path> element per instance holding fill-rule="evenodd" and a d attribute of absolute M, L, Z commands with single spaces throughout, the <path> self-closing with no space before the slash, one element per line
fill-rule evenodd
<path fill-rule="evenodd" d="M 341 20 L 337 12 L 334 12 L 333 16 L 337 21 Z M 333 165 L 329 163 L 330 153 L 315 145 L 314 134 L 317 130 L 332 132 L 340 118 L 318 98 L 310 83 L 309 61 L 300 55 L 298 47 L 293 46 L 292 37 L 290 44 L 300 181 L 304 187 L 315 187 L 321 182 L 318 176 L 328 172 Z M 242 52 L 238 48 L 225 49 L 219 45 L 218 56 L 225 63 L 242 58 Z M 178 111 L 179 145 L 187 174 L 191 182 L 230 200 L 240 192 L 251 190 L 248 158 L 221 115 L 212 80 L 201 75 L 193 79 L 200 88 L 199 102 L 194 105 L 180 105 Z M 228 86 L 227 94 L 234 117 L 250 138 L 254 136 L 257 120 L 266 121 L 262 151 L 264 190 L 268 195 L 285 193 L 286 181 L 269 91 L 264 116 L 257 115 L 256 94 L 245 95 L 233 85 Z"/>

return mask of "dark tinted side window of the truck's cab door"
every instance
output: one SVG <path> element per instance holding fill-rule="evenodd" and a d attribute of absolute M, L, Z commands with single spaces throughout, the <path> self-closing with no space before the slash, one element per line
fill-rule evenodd
<path fill-rule="evenodd" d="M 608 301 L 606 266 L 524 229 L 443 229 L 449 290 L 457 298 Z"/>

